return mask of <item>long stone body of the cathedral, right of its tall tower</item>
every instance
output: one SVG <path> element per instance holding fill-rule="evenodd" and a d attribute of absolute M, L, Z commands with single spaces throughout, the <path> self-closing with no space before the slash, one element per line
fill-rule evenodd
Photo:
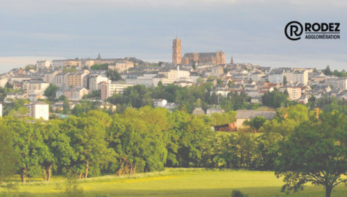
<path fill-rule="evenodd" d="M 183 55 L 183 65 L 189 65 L 193 62 L 214 63 L 215 65 L 221 65 L 226 63 L 226 55 L 223 51 L 217 51 L 212 53 L 185 53 L 185 55 Z"/>

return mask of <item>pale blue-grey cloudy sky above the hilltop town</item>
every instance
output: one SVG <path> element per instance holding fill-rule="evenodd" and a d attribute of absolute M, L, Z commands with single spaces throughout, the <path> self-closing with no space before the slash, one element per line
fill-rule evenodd
<path fill-rule="evenodd" d="M 223 51 L 226 62 L 347 69 L 343 0 L 1 0 L 0 73 L 37 60 Z M 339 40 L 285 37 L 288 22 L 339 22 Z"/>

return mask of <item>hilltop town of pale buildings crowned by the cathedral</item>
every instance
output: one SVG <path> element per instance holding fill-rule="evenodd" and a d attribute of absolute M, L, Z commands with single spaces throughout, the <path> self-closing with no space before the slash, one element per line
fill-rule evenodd
<path fill-rule="evenodd" d="M 83 101 L 94 102 L 95 108 L 116 112 L 121 101 L 110 99 L 122 95 L 128 87 L 143 85 L 146 88 L 176 85 L 205 89 L 216 102 L 203 106 L 190 106 L 192 113 L 212 114 L 225 112 L 220 101 L 230 94 L 242 95 L 249 108 L 265 104 L 264 96 L 271 92 L 287 95 L 292 102 L 307 104 L 319 99 L 347 99 L 346 71 L 330 68 L 260 67 L 236 63 L 231 56 L 225 60 L 223 51 L 212 53 L 185 53 L 181 41 L 173 40 L 172 62 L 145 62 L 137 58 L 75 58 L 67 60 L 37 60 L 8 71 L 0 76 L 2 114 L 34 117 L 48 120 L 66 117 Z M 152 96 L 153 107 L 169 110 L 181 109 L 182 103 Z M 267 97 L 266 97 L 267 98 Z M 172 99 L 171 99 L 172 100 Z M 231 99 L 230 99 L 231 100 Z M 22 101 L 22 108 L 14 107 Z M 95 104 L 96 103 L 96 104 Z M 142 105 L 144 105 L 142 103 Z M 267 105 L 269 106 L 269 105 Z M 136 107 L 136 106 L 133 106 Z M 185 106 L 187 107 L 187 106 Z M 281 107 L 281 106 L 273 106 Z M 232 108 L 232 110 L 245 110 Z"/>

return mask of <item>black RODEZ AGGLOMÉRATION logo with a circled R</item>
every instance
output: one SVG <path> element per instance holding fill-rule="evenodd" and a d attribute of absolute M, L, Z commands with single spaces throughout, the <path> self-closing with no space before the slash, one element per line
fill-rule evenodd
<path fill-rule="evenodd" d="M 289 40 L 300 40 L 305 30 L 305 39 L 340 39 L 340 23 L 305 23 L 289 22 L 285 26 L 285 36 Z"/>

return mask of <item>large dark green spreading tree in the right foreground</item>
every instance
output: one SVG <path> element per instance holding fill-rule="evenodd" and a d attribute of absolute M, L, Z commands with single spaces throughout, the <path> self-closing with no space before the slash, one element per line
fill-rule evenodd
<path fill-rule="evenodd" d="M 340 112 L 315 114 L 296 127 L 289 139 L 280 142 L 275 171 L 285 176 L 282 191 L 298 191 L 305 183 L 332 188 L 347 182 L 347 117 Z"/>

